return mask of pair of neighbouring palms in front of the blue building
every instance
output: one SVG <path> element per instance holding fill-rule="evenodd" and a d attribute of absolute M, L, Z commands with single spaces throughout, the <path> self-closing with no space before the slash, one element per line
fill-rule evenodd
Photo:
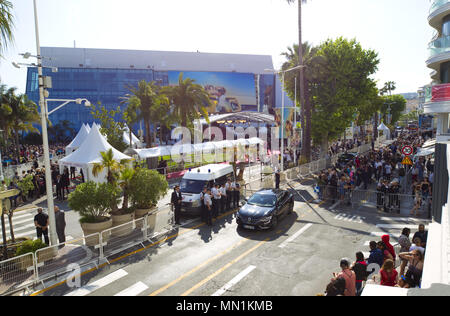
<path fill-rule="evenodd" d="M 122 102 L 127 104 L 125 117 L 129 125 L 144 121 L 147 147 L 151 147 L 154 140 L 150 128 L 152 123 L 159 124 L 162 133 L 163 127 L 170 128 L 172 124 L 192 128 L 193 121 L 202 115 L 209 120 L 206 108 L 211 101 L 208 93 L 195 80 L 184 79 L 183 73 L 180 73 L 175 86 L 161 87 L 155 81 L 142 80 L 129 90 L 131 93 Z"/>

